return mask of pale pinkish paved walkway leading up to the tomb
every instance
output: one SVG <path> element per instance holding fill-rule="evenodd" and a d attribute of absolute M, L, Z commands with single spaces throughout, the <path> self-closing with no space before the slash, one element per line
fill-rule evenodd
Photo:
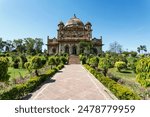
<path fill-rule="evenodd" d="M 80 64 L 66 65 L 52 80 L 34 92 L 30 100 L 112 99 L 101 83 Z"/>

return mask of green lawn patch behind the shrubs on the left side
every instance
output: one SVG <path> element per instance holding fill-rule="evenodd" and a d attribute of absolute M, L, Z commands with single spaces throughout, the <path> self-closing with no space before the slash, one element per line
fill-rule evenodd
<path fill-rule="evenodd" d="M 26 69 L 14 69 L 12 67 L 9 67 L 8 73 L 10 75 L 10 78 L 20 77 L 20 74 L 22 77 L 24 77 L 28 74 L 28 70 L 26 70 Z"/>

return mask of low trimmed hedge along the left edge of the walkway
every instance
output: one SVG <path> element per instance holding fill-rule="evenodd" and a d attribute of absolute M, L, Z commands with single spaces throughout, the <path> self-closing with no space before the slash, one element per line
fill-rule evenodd
<path fill-rule="evenodd" d="M 47 70 L 44 75 L 35 76 L 30 78 L 24 84 L 18 84 L 12 87 L 10 90 L 5 91 L 0 94 L 1 100 L 17 100 L 22 99 L 24 96 L 28 95 L 30 92 L 34 91 L 39 85 L 46 81 L 49 77 L 52 77 L 58 70 L 64 67 L 63 64 L 57 67 Z"/>

